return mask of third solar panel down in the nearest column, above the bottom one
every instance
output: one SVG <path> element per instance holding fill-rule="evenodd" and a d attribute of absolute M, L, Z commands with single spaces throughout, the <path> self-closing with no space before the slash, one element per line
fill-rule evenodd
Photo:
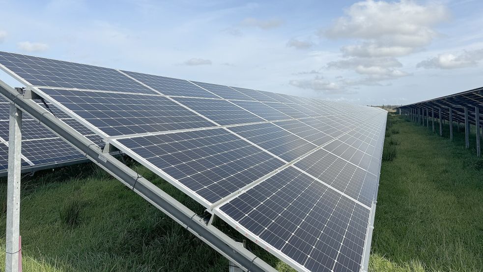
<path fill-rule="evenodd" d="M 284 165 L 223 128 L 117 141 L 205 199 L 208 205 Z"/>

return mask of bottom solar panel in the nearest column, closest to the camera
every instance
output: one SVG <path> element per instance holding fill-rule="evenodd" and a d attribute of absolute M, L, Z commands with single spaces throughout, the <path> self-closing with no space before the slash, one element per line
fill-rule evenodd
<path fill-rule="evenodd" d="M 360 269 L 369 210 L 293 167 L 219 211 L 308 271 Z"/>

